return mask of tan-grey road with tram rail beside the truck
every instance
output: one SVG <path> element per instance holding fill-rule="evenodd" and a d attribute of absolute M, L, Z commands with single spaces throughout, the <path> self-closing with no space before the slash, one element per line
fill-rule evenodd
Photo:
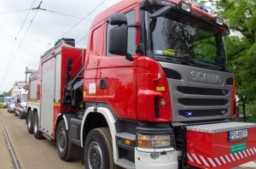
<path fill-rule="evenodd" d="M 19 119 L 13 113 L 0 108 L 0 120 L 9 135 L 10 143 L 15 151 L 16 158 L 20 164 L 20 169 L 84 169 L 81 160 L 61 161 L 55 142 L 47 139 L 35 139 L 26 129 L 25 119 Z M 1 122 L 0 121 L 0 122 Z M 9 148 L 3 137 L 3 130 L 0 127 L 0 168 L 14 169 L 10 158 Z M 251 161 L 245 165 L 237 166 L 233 169 L 256 168 L 256 163 Z"/>

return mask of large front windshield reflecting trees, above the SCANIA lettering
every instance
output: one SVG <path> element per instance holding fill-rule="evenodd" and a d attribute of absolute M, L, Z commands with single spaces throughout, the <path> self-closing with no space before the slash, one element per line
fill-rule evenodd
<path fill-rule="evenodd" d="M 149 57 L 226 70 L 223 36 L 217 27 L 173 11 L 166 18 L 151 19 L 149 15 L 145 12 L 146 54 Z"/>

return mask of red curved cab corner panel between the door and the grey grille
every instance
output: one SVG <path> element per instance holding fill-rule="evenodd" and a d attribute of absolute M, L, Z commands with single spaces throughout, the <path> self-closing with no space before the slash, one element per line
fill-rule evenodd
<path fill-rule="evenodd" d="M 161 66 L 154 59 L 140 57 L 137 60 L 137 104 L 138 119 L 140 121 L 172 121 L 171 100 L 166 76 Z M 160 75 L 160 79 L 158 76 Z M 160 87 L 160 89 L 158 89 Z M 160 115 L 154 115 L 154 99 L 165 100 L 160 105 Z"/>

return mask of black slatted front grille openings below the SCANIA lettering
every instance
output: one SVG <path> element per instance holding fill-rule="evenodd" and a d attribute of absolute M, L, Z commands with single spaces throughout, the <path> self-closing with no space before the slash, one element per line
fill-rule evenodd
<path fill-rule="evenodd" d="M 177 91 L 183 93 L 184 98 L 176 98 L 181 106 L 177 110 L 178 115 L 196 119 L 196 117 L 218 118 L 228 115 L 227 106 L 229 99 L 227 89 L 206 87 L 182 87 L 177 86 Z"/>

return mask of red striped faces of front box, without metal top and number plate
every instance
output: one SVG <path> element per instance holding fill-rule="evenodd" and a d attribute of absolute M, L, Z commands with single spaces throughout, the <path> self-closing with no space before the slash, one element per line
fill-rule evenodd
<path fill-rule="evenodd" d="M 256 159 L 256 127 L 248 128 L 248 138 L 229 142 L 228 132 L 187 131 L 188 163 L 200 168 L 232 168 Z M 246 144 L 246 149 L 231 153 L 230 146 Z"/>

